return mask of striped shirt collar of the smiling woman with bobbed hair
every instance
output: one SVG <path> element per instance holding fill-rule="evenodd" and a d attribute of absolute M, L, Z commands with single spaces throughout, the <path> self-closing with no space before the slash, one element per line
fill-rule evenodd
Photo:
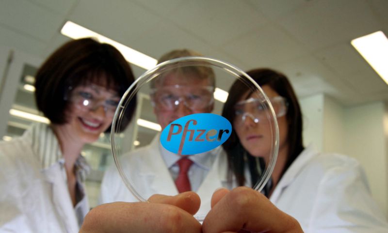
<path fill-rule="evenodd" d="M 58 139 L 48 124 L 33 124 L 27 133 L 32 136 L 32 151 L 38 156 L 43 170 L 55 163 L 60 163 L 62 166 L 65 164 Z M 80 173 L 81 179 L 84 179 L 90 171 L 90 166 L 82 155 L 77 158 L 75 169 Z"/>

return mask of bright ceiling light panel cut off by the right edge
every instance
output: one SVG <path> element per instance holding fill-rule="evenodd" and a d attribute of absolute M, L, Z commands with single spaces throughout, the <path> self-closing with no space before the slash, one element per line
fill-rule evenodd
<path fill-rule="evenodd" d="M 376 31 L 352 40 L 352 45 L 388 84 L 388 39 L 382 31 Z"/>

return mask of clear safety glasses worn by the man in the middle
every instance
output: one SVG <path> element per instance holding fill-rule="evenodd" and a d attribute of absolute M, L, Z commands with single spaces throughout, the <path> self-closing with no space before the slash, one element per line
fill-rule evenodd
<path fill-rule="evenodd" d="M 212 86 L 163 86 L 151 90 L 152 104 L 159 110 L 177 109 L 183 103 L 191 110 L 200 110 L 214 103 Z"/>

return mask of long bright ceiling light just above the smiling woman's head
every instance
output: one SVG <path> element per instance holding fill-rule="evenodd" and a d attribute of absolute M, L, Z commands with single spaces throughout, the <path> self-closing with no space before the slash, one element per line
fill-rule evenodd
<path fill-rule="evenodd" d="M 157 63 L 156 59 L 149 57 L 146 54 L 120 44 L 112 39 L 109 39 L 108 37 L 100 35 L 97 32 L 91 31 L 71 21 L 67 21 L 65 23 L 64 27 L 61 29 L 61 33 L 73 39 L 80 39 L 85 37 L 97 38 L 98 41 L 102 43 L 107 43 L 116 47 L 128 62 L 140 66 L 146 70 L 153 68 Z"/>

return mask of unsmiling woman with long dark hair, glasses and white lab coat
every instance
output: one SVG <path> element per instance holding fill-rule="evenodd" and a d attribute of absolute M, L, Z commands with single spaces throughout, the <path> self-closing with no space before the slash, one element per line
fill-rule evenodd
<path fill-rule="evenodd" d="M 321 154 L 302 140 L 302 113 L 286 76 L 255 69 L 253 78 L 274 107 L 279 126 L 279 151 L 263 193 L 279 209 L 295 217 L 307 232 L 386 232 L 384 214 L 373 202 L 359 163 L 344 155 Z M 223 109 L 233 132 L 223 144 L 229 180 L 256 184 L 271 151 L 271 134 L 263 102 L 238 80 Z M 234 177 L 234 178 L 233 178 Z"/>

